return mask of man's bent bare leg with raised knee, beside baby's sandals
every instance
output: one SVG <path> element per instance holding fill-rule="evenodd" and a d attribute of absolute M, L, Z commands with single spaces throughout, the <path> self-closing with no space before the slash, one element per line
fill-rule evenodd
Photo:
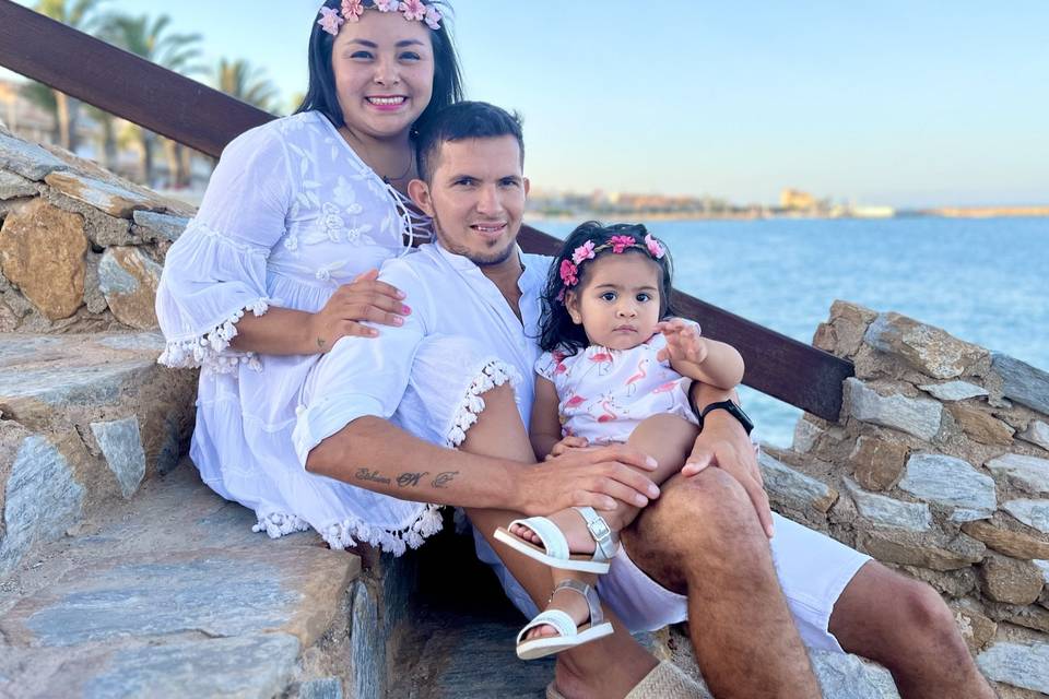
<path fill-rule="evenodd" d="M 820 696 L 768 538 L 732 476 L 675 476 L 622 536 L 641 570 L 687 594 L 692 643 L 716 697 Z"/>

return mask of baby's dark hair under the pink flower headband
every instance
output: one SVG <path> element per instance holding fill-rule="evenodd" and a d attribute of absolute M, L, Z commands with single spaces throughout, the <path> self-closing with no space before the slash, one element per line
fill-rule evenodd
<path fill-rule="evenodd" d="M 590 344 L 587 333 L 582 325 L 577 325 L 571 321 L 568 309 L 565 307 L 565 294 L 567 287 L 562 280 L 562 268 L 568 264 L 576 265 L 573 261 L 573 254 L 580 246 L 592 242 L 594 248 L 609 246 L 594 253 L 593 259 L 587 259 L 576 265 L 578 283 L 571 286 L 573 289 L 579 289 L 586 285 L 587 268 L 594 259 L 602 258 L 605 254 L 613 254 L 614 247 L 612 238 L 616 236 L 627 236 L 634 239 L 634 246 L 627 246 L 622 250 L 623 254 L 644 254 L 652 262 L 659 265 L 659 318 L 664 320 L 675 312 L 670 305 L 671 293 L 673 292 L 673 263 L 670 260 L 670 253 L 665 246 L 649 237 L 648 229 L 639 223 L 617 223 L 610 226 L 602 225 L 597 221 L 588 221 L 579 225 L 568 238 L 565 239 L 561 252 L 554 258 L 550 266 L 550 274 L 546 277 L 546 288 L 543 291 L 542 304 L 543 316 L 539 324 L 539 346 L 543 352 L 553 352 L 559 350 L 566 354 L 574 355 Z M 648 239 L 646 239 L 648 238 Z M 663 253 L 657 258 L 649 252 L 649 240 L 655 241 Z"/>

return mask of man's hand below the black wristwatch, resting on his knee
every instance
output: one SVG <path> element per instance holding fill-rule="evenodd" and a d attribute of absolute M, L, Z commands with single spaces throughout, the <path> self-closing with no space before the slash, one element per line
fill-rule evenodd
<path fill-rule="evenodd" d="M 681 475 L 694 476 L 708 466 L 721 469 L 743 486 L 765 534 L 771 538 L 773 511 L 768 506 L 754 446 L 740 422 L 724 411 L 714 411 L 704 418 L 703 431 L 696 437 Z"/>

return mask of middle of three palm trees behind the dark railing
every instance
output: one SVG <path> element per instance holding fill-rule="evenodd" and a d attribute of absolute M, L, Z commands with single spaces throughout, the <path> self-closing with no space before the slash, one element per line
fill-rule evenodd
<path fill-rule="evenodd" d="M 156 19 L 151 19 L 149 15 L 137 17 L 113 15 L 109 17 L 103 37 L 169 70 L 181 73 L 200 72 L 200 66 L 195 63 L 200 56 L 200 34 L 172 34 L 167 31 L 170 23 L 172 19 L 166 14 Z M 146 129 L 140 129 L 140 133 L 145 183 L 151 186 L 155 179 L 153 152 L 158 137 Z M 185 158 L 178 153 L 181 147 L 176 144 L 172 149 L 174 155 L 168 158 L 174 185 L 184 185 L 189 179 L 189 174 L 184 167 Z"/>

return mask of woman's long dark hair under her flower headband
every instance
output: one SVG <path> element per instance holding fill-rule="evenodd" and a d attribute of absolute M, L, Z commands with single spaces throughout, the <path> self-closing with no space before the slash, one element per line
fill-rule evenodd
<path fill-rule="evenodd" d="M 370 0 L 365 7 L 373 7 Z M 459 58 L 456 46 L 448 31 L 448 15 L 451 7 L 446 0 L 426 0 L 427 5 L 437 5 L 441 9 L 445 19 L 439 29 L 431 29 L 429 38 L 434 47 L 434 91 L 429 104 L 423 114 L 415 120 L 412 128 L 415 131 L 437 111 L 462 99 L 462 75 L 459 72 Z M 326 0 L 325 8 L 338 10 L 342 7 L 341 0 Z M 318 10 L 319 14 L 319 10 Z M 314 19 L 314 28 L 309 35 L 309 87 L 303 104 L 295 109 L 295 114 L 317 110 L 328 117 L 335 128 L 345 126 L 342 118 L 342 108 L 339 106 L 339 93 L 335 91 L 335 74 L 331 68 L 331 51 L 335 37 L 317 24 Z"/>

